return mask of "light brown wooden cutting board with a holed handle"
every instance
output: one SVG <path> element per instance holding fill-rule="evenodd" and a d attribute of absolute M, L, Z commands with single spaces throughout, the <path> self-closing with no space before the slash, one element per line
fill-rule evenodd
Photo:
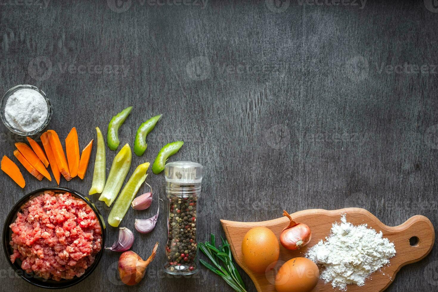
<path fill-rule="evenodd" d="M 279 212 L 281 213 L 281 212 Z M 265 226 L 271 229 L 276 236 L 280 236 L 282 230 L 288 225 L 289 219 L 286 217 L 277 218 L 274 220 L 263 222 L 235 222 L 221 220 L 222 227 L 225 231 L 226 238 L 231 245 L 234 259 L 242 269 L 254 281 L 254 285 L 259 292 L 276 291 L 274 287 L 275 273 L 279 267 L 293 257 L 304 257 L 311 246 L 314 246 L 320 239 L 325 239 L 329 235 L 330 229 L 334 222 L 340 222 L 341 215 L 346 214 L 347 222 L 354 225 L 368 224 L 369 228 L 375 229 L 377 232 L 382 231 L 383 236 L 394 243 L 396 248 L 396 256 L 392 257 L 389 266 L 381 268 L 381 271 L 376 271 L 371 274 L 365 282 L 365 285 L 359 287 L 357 285 L 348 285 L 348 292 L 378 292 L 384 291 L 391 285 L 396 277 L 397 272 L 406 264 L 417 262 L 427 256 L 431 252 L 435 241 L 435 231 L 431 221 L 422 215 L 416 215 L 409 218 L 402 225 L 389 227 L 380 222 L 374 215 L 360 208 L 345 208 L 340 210 L 327 211 L 322 209 L 304 210 L 291 214 L 296 222 L 307 224 L 312 232 L 311 242 L 300 250 L 286 250 L 280 244 L 280 257 L 273 271 L 268 271 L 265 274 L 254 274 L 244 263 L 242 258 L 242 240 L 248 230 L 256 226 Z M 417 243 L 413 244 L 413 239 L 417 238 Z M 412 241 L 410 241 L 410 239 Z M 411 245 L 413 244 L 413 245 Z M 322 268 L 320 267 L 320 272 Z M 422 273 L 423 271 L 418 271 Z M 332 288 L 331 283 L 324 284 L 320 279 L 314 292 L 332 292 L 339 291 Z"/>

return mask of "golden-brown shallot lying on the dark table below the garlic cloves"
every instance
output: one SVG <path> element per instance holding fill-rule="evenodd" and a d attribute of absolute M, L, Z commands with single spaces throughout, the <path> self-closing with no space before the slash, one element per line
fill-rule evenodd
<path fill-rule="evenodd" d="M 126 285 L 138 284 L 145 276 L 146 268 L 152 262 L 157 253 L 158 243 L 155 243 L 152 254 L 147 260 L 142 260 L 141 257 L 132 250 L 125 251 L 120 255 L 118 270 L 120 279 Z"/>

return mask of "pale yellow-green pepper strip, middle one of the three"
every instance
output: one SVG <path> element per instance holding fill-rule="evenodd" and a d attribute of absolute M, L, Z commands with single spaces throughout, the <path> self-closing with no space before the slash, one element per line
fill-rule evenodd
<path fill-rule="evenodd" d="M 108 207 L 113 204 L 125 181 L 126 175 L 131 168 L 131 159 L 132 154 L 129 144 L 123 146 L 116 157 L 114 157 L 113 165 L 111 165 L 111 170 L 109 170 L 108 179 L 99 197 L 99 201 L 104 201 Z"/>

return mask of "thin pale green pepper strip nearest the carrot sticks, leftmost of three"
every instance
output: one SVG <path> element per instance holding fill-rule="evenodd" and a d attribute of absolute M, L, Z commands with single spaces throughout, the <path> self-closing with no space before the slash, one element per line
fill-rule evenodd
<path fill-rule="evenodd" d="M 105 172 L 106 172 L 106 156 L 105 156 L 105 141 L 103 140 L 102 132 L 99 127 L 96 127 L 97 132 L 97 151 L 96 159 L 94 161 L 93 182 L 88 192 L 89 195 L 93 193 L 102 193 L 105 186 Z"/>

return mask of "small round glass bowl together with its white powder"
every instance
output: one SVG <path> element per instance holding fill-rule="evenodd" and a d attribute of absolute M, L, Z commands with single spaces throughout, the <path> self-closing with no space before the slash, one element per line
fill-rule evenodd
<path fill-rule="evenodd" d="M 43 130 L 52 117 L 52 106 L 39 88 L 20 84 L 9 89 L 1 99 L 0 117 L 4 125 L 21 136 Z"/>

